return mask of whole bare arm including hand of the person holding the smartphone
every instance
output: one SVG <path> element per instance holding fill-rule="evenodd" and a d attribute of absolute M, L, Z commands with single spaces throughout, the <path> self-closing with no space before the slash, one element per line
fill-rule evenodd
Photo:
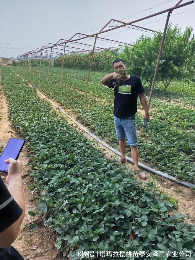
<path fill-rule="evenodd" d="M 17 204 L 22 208 L 22 215 L 11 226 L 0 233 L 0 248 L 8 247 L 14 242 L 19 233 L 20 226 L 25 215 L 25 201 L 23 194 L 23 185 L 21 178 L 22 162 L 20 157 L 18 160 L 8 159 L 6 163 L 10 163 L 6 182 L 8 183 L 8 190 Z M 5 176 L 3 173 L 1 174 Z M 10 212 L 10 214 L 12 214 Z M 2 223 L 3 224 L 3 223 Z"/>

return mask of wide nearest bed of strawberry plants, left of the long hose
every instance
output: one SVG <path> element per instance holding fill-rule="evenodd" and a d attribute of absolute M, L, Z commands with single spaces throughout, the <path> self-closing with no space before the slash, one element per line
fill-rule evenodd
<path fill-rule="evenodd" d="M 69 246 L 75 260 L 84 259 L 77 252 L 86 250 L 183 251 L 178 259 L 195 259 L 195 228 L 183 215 L 168 214 L 173 209 L 162 201 L 166 196 L 159 199 L 154 191 L 142 189 L 131 172 L 103 157 L 11 69 L 3 68 L 1 79 L 12 125 L 28 141 L 33 157 L 39 213 L 45 213 L 45 225 L 59 234 L 55 246 L 64 256 Z"/>

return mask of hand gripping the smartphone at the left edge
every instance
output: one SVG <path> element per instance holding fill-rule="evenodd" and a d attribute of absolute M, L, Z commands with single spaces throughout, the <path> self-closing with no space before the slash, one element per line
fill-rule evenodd
<path fill-rule="evenodd" d="M 22 172 L 21 157 L 19 156 L 17 161 L 12 158 L 9 158 L 5 160 L 5 163 L 9 163 L 8 173 L 4 173 L 0 171 L 0 175 L 6 177 L 6 183 L 9 184 L 12 178 L 15 178 L 17 176 L 21 177 L 21 172 Z"/>

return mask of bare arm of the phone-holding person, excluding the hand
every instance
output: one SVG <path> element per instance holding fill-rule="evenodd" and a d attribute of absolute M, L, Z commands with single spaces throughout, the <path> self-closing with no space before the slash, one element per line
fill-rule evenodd
<path fill-rule="evenodd" d="M 25 215 L 25 200 L 21 176 L 12 177 L 8 185 L 8 190 L 23 212 L 17 221 L 0 233 L 0 248 L 10 246 L 14 242 Z"/>

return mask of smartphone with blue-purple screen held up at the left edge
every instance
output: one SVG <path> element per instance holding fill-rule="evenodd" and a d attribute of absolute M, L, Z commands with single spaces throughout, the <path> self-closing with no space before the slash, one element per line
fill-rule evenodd
<path fill-rule="evenodd" d="M 17 139 L 17 138 L 10 138 L 4 151 L 0 157 L 0 171 L 8 173 L 9 163 L 5 163 L 4 160 L 9 158 L 13 158 L 17 160 L 20 152 L 22 151 L 22 147 L 25 144 L 25 140 Z"/>

